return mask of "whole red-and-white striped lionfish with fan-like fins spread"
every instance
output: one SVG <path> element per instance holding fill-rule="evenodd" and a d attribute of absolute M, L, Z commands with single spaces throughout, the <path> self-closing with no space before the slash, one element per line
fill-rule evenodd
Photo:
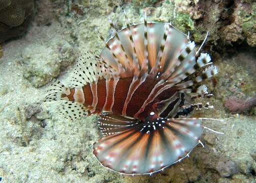
<path fill-rule="evenodd" d="M 127 26 L 120 31 L 110 21 L 113 36 L 105 41 L 99 34 L 105 43 L 101 53 L 81 54 L 71 85 L 53 83 L 45 101 L 66 100 L 58 111 L 72 120 L 98 114 L 103 137 L 93 144 L 93 154 L 103 166 L 124 174 L 152 174 L 202 144 L 202 120 L 207 118 L 186 116 L 204 107 L 190 99 L 210 95 L 198 83 L 218 69 L 211 65 L 195 76 L 212 64 L 211 57 L 198 56 L 204 43 L 195 51 L 189 34 L 172 24 L 147 22 L 146 16 L 139 24 L 130 24 L 126 14 L 125 19 Z"/>

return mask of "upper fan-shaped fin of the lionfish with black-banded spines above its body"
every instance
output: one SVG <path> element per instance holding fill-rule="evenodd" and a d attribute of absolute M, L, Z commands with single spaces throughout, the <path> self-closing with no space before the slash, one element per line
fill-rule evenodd
<path fill-rule="evenodd" d="M 153 74 L 177 84 L 208 63 L 205 59 L 205 63 L 202 59 L 195 62 L 198 51 L 194 50 L 194 42 L 170 23 L 147 22 L 145 17 L 144 23 L 130 25 L 126 14 L 125 18 L 127 27 L 115 30 L 115 36 L 107 41 L 99 56 L 121 78 Z M 110 26 L 115 29 L 112 21 Z M 127 68 L 132 73 L 124 73 Z"/>

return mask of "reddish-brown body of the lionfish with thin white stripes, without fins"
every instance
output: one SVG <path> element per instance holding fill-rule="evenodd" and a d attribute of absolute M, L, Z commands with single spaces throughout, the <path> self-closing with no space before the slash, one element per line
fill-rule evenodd
<path fill-rule="evenodd" d="M 173 100 L 165 102 L 164 106 L 159 106 L 161 107 L 159 116 L 167 117 L 180 99 L 179 95 L 175 95 L 178 92 L 175 87 L 170 87 L 156 95 L 166 85 L 162 83 L 157 86 L 160 79 L 148 77 L 143 82 L 135 80 L 133 85 L 132 80 L 133 78 L 101 79 L 97 83 L 93 82 L 81 88 L 70 89 L 71 93 L 68 98 L 69 101 L 91 106 L 93 109 L 91 113 L 107 111 L 144 121 L 152 112 L 154 104 L 173 96 Z"/>

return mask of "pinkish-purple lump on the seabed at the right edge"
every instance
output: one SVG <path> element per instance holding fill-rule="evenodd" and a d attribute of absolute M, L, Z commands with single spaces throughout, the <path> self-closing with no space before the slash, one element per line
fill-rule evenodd
<path fill-rule="evenodd" d="M 231 113 L 242 113 L 252 107 L 256 106 L 256 97 L 251 97 L 247 99 L 239 99 L 236 97 L 228 98 L 224 103 L 225 108 L 227 108 Z"/>

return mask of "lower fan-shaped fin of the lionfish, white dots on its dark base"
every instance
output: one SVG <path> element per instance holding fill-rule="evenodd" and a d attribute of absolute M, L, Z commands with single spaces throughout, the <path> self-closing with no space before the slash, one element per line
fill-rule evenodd
<path fill-rule="evenodd" d="M 149 117 L 141 123 L 104 114 L 98 123 L 107 136 L 94 143 L 94 155 L 103 166 L 124 174 L 152 174 L 181 161 L 203 132 L 198 118 Z"/>

